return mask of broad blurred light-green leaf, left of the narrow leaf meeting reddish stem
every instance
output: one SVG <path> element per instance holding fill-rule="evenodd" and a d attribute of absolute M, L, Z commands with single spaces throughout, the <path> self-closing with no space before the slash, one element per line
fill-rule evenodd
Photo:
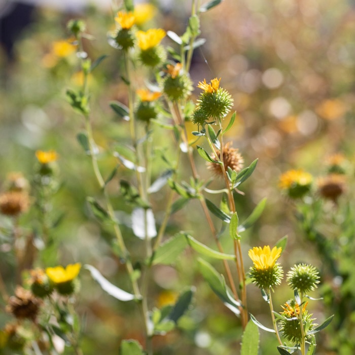
<path fill-rule="evenodd" d="M 177 257 L 185 250 L 187 241 L 185 234 L 177 233 L 172 238 L 160 244 L 152 256 L 152 265 L 170 265 L 175 262 Z"/>

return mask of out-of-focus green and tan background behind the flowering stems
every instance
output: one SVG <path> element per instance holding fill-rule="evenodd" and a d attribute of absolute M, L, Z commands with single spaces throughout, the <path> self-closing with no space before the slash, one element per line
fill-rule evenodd
<path fill-rule="evenodd" d="M 156 16 L 147 26 L 183 33 L 190 15 L 189 1 L 152 4 Z M 325 302 L 314 309 L 310 304 L 310 310 L 318 319 L 336 314 L 328 332 L 318 335 L 317 353 L 322 354 L 353 354 L 355 349 L 351 340 L 355 329 L 354 10 L 353 3 L 345 0 L 226 0 L 201 15 L 201 37 L 207 41 L 195 51 L 191 66 L 194 86 L 203 78 L 222 77 L 221 83 L 232 94 L 237 112 L 228 138 L 239 148 L 246 165 L 259 158 L 257 169 L 243 185 L 245 196 L 238 195 L 236 199 L 238 215 L 243 220 L 262 198 L 267 198 L 259 222 L 242 236 L 246 263 L 251 264 L 246 256 L 251 246 L 273 245 L 287 234 L 287 250 L 280 260 L 285 270 L 296 262 L 306 262 L 321 271 L 323 286 L 313 296 L 324 296 Z M 50 230 L 51 245 L 40 250 L 44 264 L 41 266 L 88 263 L 126 289 L 127 276 L 121 272 L 120 259 L 108 242 L 112 238 L 110 226 L 100 226 L 86 202 L 87 196 L 99 198 L 99 191 L 90 161 L 76 138 L 84 123 L 65 98 L 68 87 L 80 85 L 77 58 L 74 52 L 58 52 L 53 46 L 68 37 L 67 21 L 78 17 L 85 19 L 86 31 L 93 36 L 92 41 L 84 40 L 88 56 L 94 60 L 102 54 L 108 55 L 89 81 L 94 136 L 100 149 L 103 176 L 108 176 L 117 164 L 107 151 L 120 150 L 129 141 L 128 126 L 109 105 L 112 100 L 127 104 L 126 86 L 121 79 L 121 54 L 106 40 L 114 24 L 112 11 L 92 5 L 79 13 L 70 13 L 37 6 L 31 22 L 17 37 L 11 56 L 5 50 L 0 53 L 0 182 L 4 188 L 8 174 L 16 171 L 33 187 L 38 163 L 34 152 L 55 150 L 59 155 L 56 172 L 59 186 L 51 196 L 48 213 L 52 221 L 58 218 L 61 221 Z M 2 37 L 6 35 L 2 33 Z M 167 37 L 164 44 L 174 46 Z M 195 129 L 191 124 L 191 131 Z M 154 139 L 166 149 L 167 158 L 171 158 L 169 134 L 157 127 Z M 327 159 L 335 153 L 344 157 L 346 179 L 341 196 L 334 202 L 322 199 L 317 179 L 328 173 Z M 156 177 L 166 169 L 159 156 Z M 210 172 L 202 159 L 197 161 L 200 175 L 209 178 Z M 285 196 L 278 187 L 280 174 L 291 168 L 302 168 L 314 176 L 313 190 L 298 201 Z M 180 174 L 186 180 L 190 171 L 187 168 Z M 131 209 L 120 195 L 119 179 L 129 180 L 130 172 L 119 167 L 118 177 L 110 183 L 114 207 L 124 221 Z M 215 180 L 211 186 L 219 184 Z M 162 219 L 160 205 L 167 191 L 168 187 L 162 189 L 153 201 L 157 223 Z M 34 199 L 34 189 L 31 195 Z M 31 208 L 21 216 L 22 228 L 34 234 L 40 230 L 42 227 L 35 222 L 38 213 Z M 7 257 L 7 218 L 1 217 L 0 223 L 0 267 L 9 288 L 14 289 L 14 266 Z M 143 255 L 139 240 L 128 226 L 122 228 L 133 251 L 133 263 L 138 262 Z M 196 201 L 173 215 L 167 234 L 182 229 L 196 231 L 195 238 L 213 245 Z M 232 248 L 230 238 L 222 238 L 221 242 L 228 253 Z M 153 268 L 152 303 L 162 305 L 189 285 L 197 289 L 193 309 L 181 319 L 180 330 L 154 339 L 156 352 L 236 353 L 241 335 L 239 321 L 203 282 L 195 259 L 195 253 L 187 250 L 174 267 Z M 215 266 L 221 268 L 218 263 Z M 134 306 L 122 305 L 105 294 L 85 270 L 81 272 L 81 281 L 78 312 L 86 315 L 82 340 L 85 354 L 117 353 L 121 339 L 144 341 Z M 289 293 L 281 285 L 275 293 L 275 304 L 283 304 L 292 296 Z M 270 325 L 267 307 L 254 286 L 248 286 L 248 300 L 251 313 L 261 323 Z M 8 318 L 4 312 L 0 313 L 0 327 Z M 268 334 L 262 334 L 261 344 L 263 355 L 275 353 L 276 340 Z"/>

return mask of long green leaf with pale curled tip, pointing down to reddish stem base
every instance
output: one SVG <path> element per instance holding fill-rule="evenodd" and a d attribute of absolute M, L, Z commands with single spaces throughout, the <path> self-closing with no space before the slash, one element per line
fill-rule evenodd
<path fill-rule="evenodd" d="M 224 305 L 228 307 L 234 314 L 239 315 L 240 304 L 235 301 L 230 290 L 227 288 L 224 278 L 216 271 L 216 269 L 203 259 L 198 259 L 199 270 L 208 283 L 212 291 L 222 300 Z"/>

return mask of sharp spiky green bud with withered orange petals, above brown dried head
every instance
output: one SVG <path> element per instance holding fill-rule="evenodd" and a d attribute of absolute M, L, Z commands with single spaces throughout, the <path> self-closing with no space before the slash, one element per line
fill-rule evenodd
<path fill-rule="evenodd" d="M 233 99 L 227 90 L 220 87 L 220 81 L 221 78 L 215 78 L 210 83 L 207 83 L 206 79 L 204 79 L 203 82 L 199 82 L 197 85 L 203 91 L 197 100 L 196 109 L 200 110 L 201 114 L 204 114 L 205 120 L 209 118 L 220 120 L 231 110 Z M 198 118 L 201 117 L 202 115 L 198 115 Z M 194 115 L 192 120 L 196 124 L 201 124 Z"/>

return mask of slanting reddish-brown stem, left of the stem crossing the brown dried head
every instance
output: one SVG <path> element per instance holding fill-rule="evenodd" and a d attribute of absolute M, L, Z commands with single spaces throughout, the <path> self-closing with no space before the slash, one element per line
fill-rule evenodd
<path fill-rule="evenodd" d="M 169 103 L 169 109 L 170 109 L 170 112 L 171 112 L 171 114 L 172 114 L 172 116 L 174 118 L 175 124 L 182 128 L 182 133 L 183 133 L 182 134 L 182 139 L 183 139 L 183 142 L 184 142 L 184 144 L 186 145 L 186 147 L 188 149 L 187 154 L 188 154 L 188 158 L 189 158 L 189 161 L 190 161 L 193 177 L 194 177 L 194 179 L 198 179 L 199 175 L 197 173 L 197 169 L 196 169 L 196 165 L 195 165 L 195 161 L 194 161 L 194 157 L 193 157 L 192 151 L 189 149 L 189 141 L 188 141 L 188 136 L 187 136 L 187 130 L 186 130 L 185 122 L 182 119 L 182 114 L 181 114 L 177 104 L 173 105 L 171 102 L 168 102 L 168 103 Z M 202 210 L 204 212 L 204 215 L 206 217 L 206 221 L 207 221 L 207 224 L 209 226 L 209 229 L 211 230 L 211 233 L 214 236 L 214 239 L 215 239 L 215 242 L 217 244 L 218 250 L 221 253 L 224 253 L 222 244 L 221 244 L 221 242 L 220 242 L 220 240 L 218 238 L 217 230 L 216 230 L 215 225 L 214 225 L 214 223 L 213 223 L 213 221 L 211 219 L 211 216 L 209 214 L 209 210 L 208 210 L 208 207 L 207 207 L 207 204 L 206 204 L 206 201 L 205 201 L 204 197 L 201 196 L 201 198 L 199 198 L 199 201 L 200 201 Z M 232 271 L 231 271 L 231 269 L 229 267 L 229 264 L 228 264 L 227 260 L 223 260 L 223 266 L 225 268 L 225 271 L 226 271 L 226 274 L 227 274 L 227 279 L 228 279 L 228 282 L 229 282 L 229 286 L 230 286 L 230 288 L 232 290 L 233 296 L 234 296 L 236 301 L 240 302 L 240 299 L 239 299 L 239 296 L 238 296 L 238 292 L 237 292 L 237 289 L 235 287 Z"/>

